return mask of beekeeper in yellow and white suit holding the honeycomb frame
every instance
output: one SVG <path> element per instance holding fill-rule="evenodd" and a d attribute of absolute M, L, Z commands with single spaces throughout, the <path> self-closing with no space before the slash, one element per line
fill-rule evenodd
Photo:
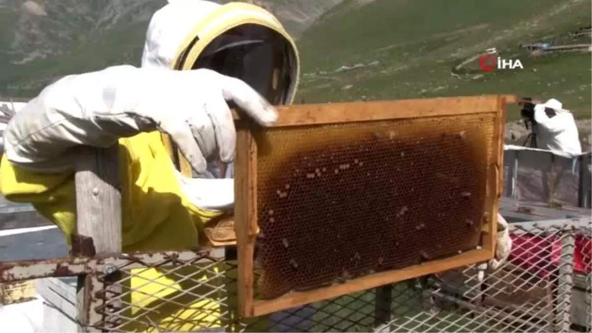
<path fill-rule="evenodd" d="M 32 203 L 68 241 L 76 225 L 72 148 L 117 142 L 123 251 L 181 250 L 210 242 L 204 235 L 208 222 L 234 202 L 232 180 L 208 179 L 207 170 L 208 163 L 234 158 L 236 132 L 227 102 L 263 126 L 274 123 L 271 105 L 291 103 L 299 61 L 294 41 L 265 9 L 177 0 L 153 15 L 142 67 L 66 76 L 43 89 L 5 130 L 2 193 Z M 133 286 L 156 283 L 134 290 L 131 315 L 162 302 L 158 311 L 144 313 L 160 328 L 195 331 L 228 324 L 217 303 L 224 289 L 213 281 L 208 286 L 214 291 L 208 291 L 156 270 L 137 274 Z M 138 279 L 143 283 L 134 282 Z M 182 318 L 191 318 L 191 324 L 179 324 Z"/>

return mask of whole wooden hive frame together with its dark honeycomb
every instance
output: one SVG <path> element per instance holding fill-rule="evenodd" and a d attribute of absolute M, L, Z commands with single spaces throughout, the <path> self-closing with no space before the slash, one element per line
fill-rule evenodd
<path fill-rule="evenodd" d="M 493 258 L 504 96 L 280 108 L 237 123 L 252 317 Z"/>

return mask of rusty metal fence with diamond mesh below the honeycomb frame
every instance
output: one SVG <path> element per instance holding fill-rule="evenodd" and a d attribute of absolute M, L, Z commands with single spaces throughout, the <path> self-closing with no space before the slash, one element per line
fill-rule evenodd
<path fill-rule="evenodd" d="M 78 276 L 76 320 L 105 332 L 587 332 L 592 217 L 511 224 L 496 271 L 446 271 L 255 319 L 236 315 L 236 252 L 4 262 L 0 283 Z"/>

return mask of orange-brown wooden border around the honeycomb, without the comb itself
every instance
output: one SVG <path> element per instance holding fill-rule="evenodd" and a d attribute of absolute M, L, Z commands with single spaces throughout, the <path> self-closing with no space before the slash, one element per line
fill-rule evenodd
<path fill-rule="evenodd" d="M 476 114 L 493 117 L 493 137 L 488 155 L 487 184 L 482 220 L 475 228 L 480 233 L 475 249 L 442 259 L 427 260 L 408 267 L 372 272 L 330 286 L 294 291 L 272 299 L 257 299 L 255 278 L 256 242 L 260 234 L 258 223 L 258 146 L 268 129 L 252 121 L 236 117 L 237 147 L 235 160 L 235 229 L 239 313 L 245 318 L 294 308 L 353 292 L 371 289 L 388 283 L 408 280 L 484 262 L 494 257 L 497 232 L 498 200 L 503 179 L 503 133 L 505 105 L 516 101 L 513 95 L 481 95 L 476 97 L 429 98 L 421 100 L 373 101 L 363 103 L 304 104 L 279 107 L 279 119 L 272 129 L 302 129 L 306 126 L 327 124 L 355 124 L 369 121 L 424 119 L 433 117 L 471 117 Z M 258 143 L 259 142 L 259 143 Z M 395 250 L 396 251 L 396 250 Z M 356 252 L 357 255 L 358 252 Z"/>

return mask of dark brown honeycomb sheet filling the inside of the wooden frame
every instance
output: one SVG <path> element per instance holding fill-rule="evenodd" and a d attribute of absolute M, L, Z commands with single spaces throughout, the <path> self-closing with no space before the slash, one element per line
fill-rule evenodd
<path fill-rule="evenodd" d="M 257 133 L 263 299 L 480 243 L 494 114 Z M 260 274 L 260 275 L 259 275 Z"/>

